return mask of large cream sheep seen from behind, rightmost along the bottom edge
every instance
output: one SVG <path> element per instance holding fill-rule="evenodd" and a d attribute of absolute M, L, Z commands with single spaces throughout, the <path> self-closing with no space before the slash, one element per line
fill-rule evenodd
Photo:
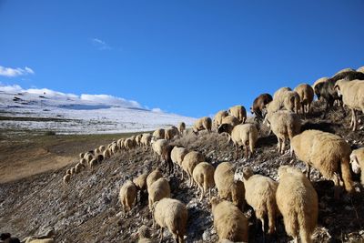
<path fill-rule="evenodd" d="M 283 216 L 286 232 L 298 242 L 311 242 L 318 222 L 318 194 L 308 178 L 294 167 L 278 168 L 277 206 Z"/>

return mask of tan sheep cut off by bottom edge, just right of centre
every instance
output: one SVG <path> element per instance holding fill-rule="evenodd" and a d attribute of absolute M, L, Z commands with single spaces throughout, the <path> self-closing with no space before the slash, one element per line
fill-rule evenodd
<path fill-rule="evenodd" d="M 239 208 L 217 197 L 212 197 L 210 203 L 218 238 L 248 242 L 248 219 Z"/>

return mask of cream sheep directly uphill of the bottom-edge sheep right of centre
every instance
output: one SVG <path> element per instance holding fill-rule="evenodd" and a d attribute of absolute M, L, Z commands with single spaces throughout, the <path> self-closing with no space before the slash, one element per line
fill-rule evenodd
<path fill-rule="evenodd" d="M 229 162 L 223 162 L 217 166 L 214 173 L 214 181 L 218 197 L 232 201 L 238 208 L 243 208 L 245 204 L 244 183 L 235 181 L 234 174 L 234 168 Z"/>

